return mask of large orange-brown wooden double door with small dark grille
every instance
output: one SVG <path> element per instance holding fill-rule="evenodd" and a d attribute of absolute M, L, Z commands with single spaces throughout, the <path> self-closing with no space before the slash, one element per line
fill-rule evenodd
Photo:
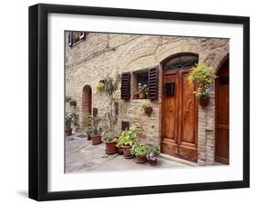
<path fill-rule="evenodd" d="M 189 69 L 163 73 L 161 151 L 197 161 L 198 106 L 188 74 Z"/>

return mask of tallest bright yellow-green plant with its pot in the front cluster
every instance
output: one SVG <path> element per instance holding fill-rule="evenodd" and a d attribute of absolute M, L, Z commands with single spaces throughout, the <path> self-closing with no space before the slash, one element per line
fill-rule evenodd
<path fill-rule="evenodd" d="M 137 128 L 135 125 L 132 125 L 129 130 L 121 132 L 121 136 L 118 139 L 117 145 L 122 147 L 124 158 L 132 158 L 130 151 L 135 142 L 137 142 Z"/>

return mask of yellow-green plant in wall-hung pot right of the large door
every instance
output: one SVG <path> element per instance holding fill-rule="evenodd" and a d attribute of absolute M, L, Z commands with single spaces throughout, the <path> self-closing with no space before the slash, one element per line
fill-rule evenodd
<path fill-rule="evenodd" d="M 210 102 L 210 84 L 217 78 L 216 69 L 205 63 L 197 63 L 189 72 L 189 83 L 195 83 L 197 90 L 194 91 L 200 100 L 200 105 L 205 107 Z"/>

